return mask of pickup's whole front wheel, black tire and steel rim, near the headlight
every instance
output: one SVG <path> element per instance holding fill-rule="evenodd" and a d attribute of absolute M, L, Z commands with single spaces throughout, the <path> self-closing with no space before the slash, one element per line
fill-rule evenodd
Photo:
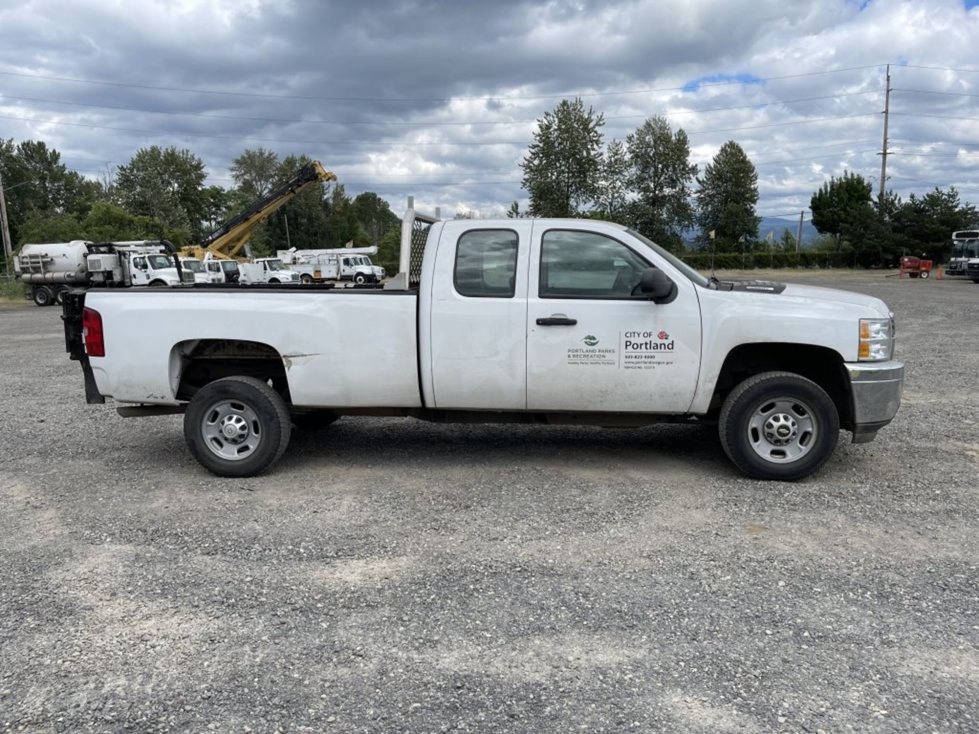
<path fill-rule="evenodd" d="M 791 372 L 748 378 L 724 400 L 718 430 L 744 474 L 792 482 L 809 477 L 836 449 L 840 417 L 812 380 Z"/>

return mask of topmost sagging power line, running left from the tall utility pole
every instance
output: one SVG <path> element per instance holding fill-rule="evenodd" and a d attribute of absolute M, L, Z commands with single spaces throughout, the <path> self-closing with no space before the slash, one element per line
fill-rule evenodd
<path fill-rule="evenodd" d="M 676 91 L 697 91 L 703 87 L 717 87 L 730 85 L 750 85 L 759 84 L 765 81 L 775 81 L 777 79 L 795 79 L 804 76 L 817 76 L 819 74 L 841 73 L 843 71 L 858 71 L 862 69 L 876 69 L 879 64 L 868 64 L 862 67 L 848 67 L 846 69 L 820 69 L 818 71 L 804 71 L 794 74 L 781 74 L 779 76 L 768 76 L 765 78 L 751 77 L 750 79 L 732 79 L 730 81 L 705 81 L 702 83 L 688 82 L 678 87 L 657 87 L 645 89 L 626 89 L 608 92 L 563 92 L 561 94 L 532 94 L 532 95 L 495 95 L 485 97 L 328 97 L 318 95 L 298 95 L 298 94 L 267 94 L 260 92 L 230 92 L 223 89 L 193 89 L 188 87 L 167 87 L 151 84 L 132 84 L 121 81 L 104 81 L 98 79 L 81 79 L 68 76 L 47 76 L 45 74 L 30 74 L 21 71 L 0 71 L 0 74 L 7 76 L 22 76 L 30 79 L 44 79 L 48 81 L 68 81 L 77 84 L 99 84 L 103 86 L 127 87 L 131 89 L 153 89 L 163 92 L 189 92 L 191 94 L 213 94 L 231 97 L 260 97 L 266 99 L 289 99 L 289 100 L 322 100 L 328 102 L 478 102 L 478 101 L 498 101 L 498 100 L 543 100 L 558 99 L 567 97 L 608 97 L 620 94 L 649 94 L 652 92 L 676 92 Z M 692 89 L 691 89 L 692 87 Z"/>

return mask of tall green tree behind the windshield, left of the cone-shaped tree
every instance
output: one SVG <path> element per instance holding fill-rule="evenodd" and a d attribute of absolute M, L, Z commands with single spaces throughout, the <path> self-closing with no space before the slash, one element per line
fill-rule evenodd
<path fill-rule="evenodd" d="M 678 250 L 683 232 L 693 226 L 691 186 L 697 175 L 690 162 L 690 142 L 682 129 L 674 133 L 664 117 L 649 117 L 626 138 L 635 192 L 631 223 L 655 242 Z M 757 197 L 756 197 L 757 201 Z"/>

